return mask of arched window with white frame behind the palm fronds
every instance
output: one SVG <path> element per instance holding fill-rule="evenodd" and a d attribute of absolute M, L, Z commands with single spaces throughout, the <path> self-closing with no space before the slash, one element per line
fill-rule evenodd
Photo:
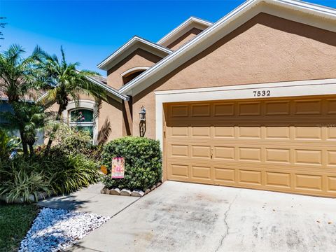
<path fill-rule="evenodd" d="M 70 111 L 69 125 L 77 130 L 90 132 L 93 137 L 93 111 L 92 109 L 73 109 Z"/>

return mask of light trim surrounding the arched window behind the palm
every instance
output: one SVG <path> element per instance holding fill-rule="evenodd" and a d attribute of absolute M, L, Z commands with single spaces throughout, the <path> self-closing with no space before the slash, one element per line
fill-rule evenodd
<path fill-rule="evenodd" d="M 78 106 L 76 106 L 78 105 Z M 93 123 L 89 123 L 89 122 L 85 122 L 85 123 L 76 123 L 76 122 L 71 122 L 70 121 L 70 111 L 72 111 L 73 109 L 90 109 L 93 111 L 93 118 L 94 118 L 94 122 Z M 97 117 L 97 104 L 94 101 L 88 100 L 88 99 L 80 99 L 78 101 L 78 104 L 76 104 L 75 102 L 71 101 L 69 102 L 68 106 L 66 106 L 66 110 L 63 111 L 62 116 L 65 122 L 67 122 L 70 126 L 74 126 L 74 125 L 83 125 L 83 126 L 93 126 L 93 143 L 97 143 L 97 139 L 98 139 L 98 117 Z"/>

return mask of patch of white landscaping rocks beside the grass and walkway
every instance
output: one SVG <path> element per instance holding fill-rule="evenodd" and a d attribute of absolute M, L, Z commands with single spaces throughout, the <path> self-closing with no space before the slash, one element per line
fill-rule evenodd
<path fill-rule="evenodd" d="M 63 251 L 106 223 L 109 218 L 78 211 L 43 208 L 25 239 L 21 241 L 19 251 Z"/>

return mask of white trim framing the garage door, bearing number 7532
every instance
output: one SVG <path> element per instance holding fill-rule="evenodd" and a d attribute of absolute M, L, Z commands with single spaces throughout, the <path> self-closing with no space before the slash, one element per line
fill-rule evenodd
<path fill-rule="evenodd" d="M 253 91 L 269 90 L 270 97 L 254 97 Z M 232 99 L 272 99 L 276 97 L 303 97 L 309 95 L 336 94 L 336 78 L 323 80 L 299 80 L 281 83 L 231 85 L 189 90 L 167 90 L 155 93 L 156 139 L 163 149 L 163 104 L 169 102 L 202 102 Z"/>

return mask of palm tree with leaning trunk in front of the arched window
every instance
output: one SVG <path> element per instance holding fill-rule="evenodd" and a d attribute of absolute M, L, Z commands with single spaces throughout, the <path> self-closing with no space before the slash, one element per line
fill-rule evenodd
<path fill-rule="evenodd" d="M 41 61 L 49 84 L 45 99 L 48 101 L 55 101 L 59 105 L 56 120 L 61 120 L 62 112 L 66 110 L 66 106 L 68 106 L 71 99 L 78 104 L 78 97 L 80 94 L 88 94 L 96 100 L 106 99 L 105 90 L 92 83 L 87 78 L 87 76 L 94 76 L 97 75 L 97 73 L 85 70 L 78 71 L 76 69 L 76 67 L 79 66 L 78 62 L 66 62 L 62 46 L 61 55 L 62 58 L 59 59 L 57 55 L 49 55 L 48 53 L 43 52 L 43 61 Z M 50 150 L 57 128 L 57 124 L 52 128 L 45 149 L 46 155 Z"/>

